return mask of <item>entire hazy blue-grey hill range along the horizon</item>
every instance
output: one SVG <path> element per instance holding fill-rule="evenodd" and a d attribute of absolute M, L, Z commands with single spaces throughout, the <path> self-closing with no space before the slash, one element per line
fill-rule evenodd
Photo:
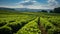
<path fill-rule="evenodd" d="M 18 11 L 18 12 L 40 12 L 42 10 L 51 11 L 51 9 L 29 9 L 29 8 L 5 8 L 0 7 L 0 10 L 7 10 L 7 11 Z"/>

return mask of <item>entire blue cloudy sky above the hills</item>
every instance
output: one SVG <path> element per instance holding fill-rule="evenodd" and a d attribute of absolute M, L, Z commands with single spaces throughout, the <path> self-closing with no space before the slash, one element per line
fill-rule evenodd
<path fill-rule="evenodd" d="M 60 0 L 0 0 L 0 7 L 53 9 L 60 7 Z"/>

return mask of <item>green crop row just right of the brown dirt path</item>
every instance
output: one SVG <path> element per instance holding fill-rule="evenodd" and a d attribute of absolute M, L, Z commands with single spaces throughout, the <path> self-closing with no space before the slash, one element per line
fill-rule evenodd
<path fill-rule="evenodd" d="M 49 22 L 46 18 L 40 17 L 41 24 L 45 27 L 48 34 L 59 34 L 60 28 L 54 26 L 51 22 Z"/>

